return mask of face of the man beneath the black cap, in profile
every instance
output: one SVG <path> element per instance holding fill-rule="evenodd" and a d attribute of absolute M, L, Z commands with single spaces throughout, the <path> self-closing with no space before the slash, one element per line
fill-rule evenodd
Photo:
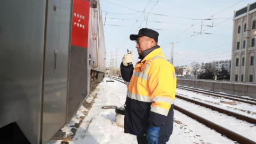
<path fill-rule="evenodd" d="M 137 48 L 139 55 L 142 54 L 142 51 L 146 51 L 146 50 L 150 49 L 151 47 L 153 47 L 153 45 L 154 45 L 154 39 L 146 37 L 146 36 L 139 37 L 136 40 L 136 42 L 137 42 L 136 48 Z"/>

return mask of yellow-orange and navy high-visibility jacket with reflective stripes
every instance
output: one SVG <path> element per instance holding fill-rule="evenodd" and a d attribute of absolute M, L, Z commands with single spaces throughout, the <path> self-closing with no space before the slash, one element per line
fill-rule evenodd
<path fill-rule="evenodd" d="M 177 79 L 174 67 L 158 47 L 137 62 L 134 69 L 121 63 L 122 77 L 132 75 L 130 82 L 124 78 L 128 87 L 124 126 L 125 133 L 134 135 L 147 134 L 149 125 L 159 126 L 159 139 L 169 140 Z"/>

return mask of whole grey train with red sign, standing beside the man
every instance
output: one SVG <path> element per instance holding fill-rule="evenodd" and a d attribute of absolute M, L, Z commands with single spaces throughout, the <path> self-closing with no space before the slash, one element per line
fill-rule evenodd
<path fill-rule="evenodd" d="M 46 143 L 102 81 L 100 7 L 100 0 L 0 1 L 0 143 Z"/>

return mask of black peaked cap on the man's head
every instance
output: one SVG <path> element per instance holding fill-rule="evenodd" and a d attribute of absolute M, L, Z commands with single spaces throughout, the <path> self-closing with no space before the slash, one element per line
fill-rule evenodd
<path fill-rule="evenodd" d="M 130 35 L 130 39 L 132 41 L 135 41 L 136 39 L 138 39 L 141 36 L 147 36 L 147 37 L 153 38 L 157 42 L 159 34 L 157 33 L 157 31 L 155 31 L 153 29 L 142 28 L 139 30 L 138 35 Z"/>

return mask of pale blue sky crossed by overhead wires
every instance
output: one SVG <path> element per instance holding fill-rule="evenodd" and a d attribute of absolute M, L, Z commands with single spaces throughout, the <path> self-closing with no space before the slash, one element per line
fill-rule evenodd
<path fill-rule="evenodd" d="M 147 18 L 147 28 L 157 29 L 156 31 L 159 33 L 158 45 L 162 47 L 167 59 L 171 58 L 170 43 L 174 43 L 174 66 L 190 65 L 193 61 L 208 62 L 231 59 L 234 11 L 242 9 L 248 3 L 255 2 L 252 0 L 157 1 L 102 0 L 107 67 L 109 67 L 111 52 L 113 52 L 113 58 L 117 55 L 117 67 L 119 67 L 123 55 L 127 53 L 127 49 L 133 50 L 133 63 L 139 60 L 135 42 L 130 41 L 129 36 L 130 34 L 138 34 L 140 28 L 145 28 Z M 138 12 L 143 10 L 145 12 L 151 11 L 151 14 Z M 106 11 L 108 12 L 107 15 Z M 164 14 L 168 17 L 156 14 Z M 212 15 L 214 20 L 195 20 L 212 18 Z M 136 20 L 138 21 L 136 22 Z M 213 27 L 207 27 L 207 25 L 212 26 L 212 23 Z M 203 25 L 203 33 L 210 34 L 199 34 L 201 25 Z"/>

